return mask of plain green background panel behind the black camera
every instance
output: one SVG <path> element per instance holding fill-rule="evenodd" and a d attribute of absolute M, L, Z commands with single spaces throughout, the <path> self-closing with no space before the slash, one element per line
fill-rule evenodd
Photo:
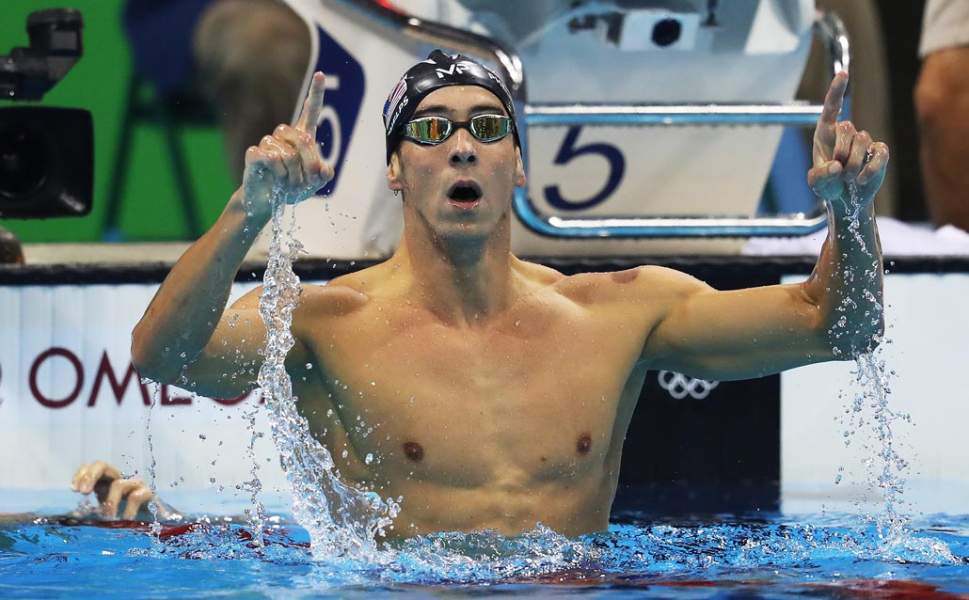
<path fill-rule="evenodd" d="M 84 18 L 84 56 L 52 89 L 41 106 L 84 108 L 94 116 L 94 210 L 84 218 L 2 221 L 24 242 L 79 242 L 103 238 L 105 205 L 126 110 L 131 74 L 128 44 L 121 27 L 122 0 L 0 0 L 0 54 L 27 45 L 26 19 L 34 10 L 72 7 Z M 29 103 L 18 103 L 26 106 Z M 36 104 L 36 103 L 35 103 Z M 12 106 L 0 101 L 0 108 Z M 134 131 L 127 185 L 122 193 L 120 233 L 126 240 L 179 240 L 188 237 L 164 138 L 155 124 Z M 215 123 L 181 136 L 203 227 L 214 222 L 233 189 L 222 138 Z"/>

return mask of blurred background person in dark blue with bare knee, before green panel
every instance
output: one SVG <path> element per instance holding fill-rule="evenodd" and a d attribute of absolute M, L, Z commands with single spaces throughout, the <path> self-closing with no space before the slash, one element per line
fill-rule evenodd
<path fill-rule="evenodd" d="M 135 68 L 161 96 L 217 107 L 236 183 L 245 152 L 292 120 L 310 58 L 306 24 L 281 0 L 128 0 Z"/>

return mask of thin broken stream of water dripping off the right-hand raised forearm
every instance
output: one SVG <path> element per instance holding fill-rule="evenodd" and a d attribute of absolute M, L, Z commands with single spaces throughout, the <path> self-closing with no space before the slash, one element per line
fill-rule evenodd
<path fill-rule="evenodd" d="M 862 252 L 872 259 L 871 268 L 865 269 L 861 273 L 866 281 L 862 285 L 871 283 L 878 277 L 879 262 L 865 244 L 860 232 L 860 212 L 864 203 L 862 202 L 858 188 L 855 184 L 848 184 L 848 193 L 851 198 L 854 211 L 848 224 L 848 233 L 854 238 Z M 852 269 L 845 272 L 845 284 L 852 286 L 856 281 L 856 273 Z M 864 301 L 869 305 L 863 313 L 865 318 L 873 320 L 879 319 L 882 312 L 882 305 L 878 299 L 865 290 Z M 845 297 L 838 310 L 844 312 L 848 308 L 857 309 L 858 305 L 850 297 Z M 874 323 L 873 323 L 874 324 Z M 832 328 L 832 335 L 837 337 L 847 332 L 838 332 L 846 326 L 846 319 L 842 317 L 838 324 Z M 876 339 L 882 342 L 882 339 Z M 910 517 L 906 515 L 902 508 L 905 505 L 905 475 L 908 470 L 906 461 L 898 451 L 894 426 L 898 422 L 911 423 L 911 418 L 903 413 L 892 411 L 888 406 L 889 395 L 891 394 L 891 378 L 894 371 L 886 367 L 883 355 L 883 346 L 879 345 L 874 350 L 860 353 L 855 358 L 855 385 L 858 391 L 854 393 L 850 406 L 845 409 L 846 418 L 842 419 L 845 427 L 845 445 L 851 443 L 852 438 L 859 432 L 864 432 L 868 438 L 863 446 L 868 451 L 869 456 L 864 461 L 866 483 L 869 491 L 878 490 L 882 496 L 882 511 L 874 515 L 868 515 L 869 520 L 875 525 L 878 536 L 886 546 L 893 546 L 905 543 L 907 535 L 907 523 Z M 867 428 L 867 429 L 866 429 Z M 835 483 L 840 482 L 839 474 Z"/>

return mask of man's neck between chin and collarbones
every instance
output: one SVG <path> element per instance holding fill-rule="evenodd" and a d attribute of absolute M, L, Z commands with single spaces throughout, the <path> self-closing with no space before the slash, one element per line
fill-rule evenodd
<path fill-rule="evenodd" d="M 486 238 L 444 239 L 420 229 L 404 228 L 392 260 L 409 272 L 428 310 L 448 324 L 474 327 L 511 304 L 517 259 L 507 219 Z"/>

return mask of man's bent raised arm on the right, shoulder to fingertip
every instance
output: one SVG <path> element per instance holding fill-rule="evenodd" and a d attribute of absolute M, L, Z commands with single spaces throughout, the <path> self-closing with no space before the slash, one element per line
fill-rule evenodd
<path fill-rule="evenodd" d="M 828 211 L 828 237 L 814 272 L 800 284 L 718 292 L 682 273 L 654 269 L 647 287 L 669 292 L 644 346 L 653 368 L 744 379 L 850 359 L 879 343 L 882 261 L 873 200 L 888 147 L 837 120 L 847 84 L 846 73 L 831 82 L 814 135 L 808 183 Z M 656 301 L 655 291 L 646 293 Z"/>

